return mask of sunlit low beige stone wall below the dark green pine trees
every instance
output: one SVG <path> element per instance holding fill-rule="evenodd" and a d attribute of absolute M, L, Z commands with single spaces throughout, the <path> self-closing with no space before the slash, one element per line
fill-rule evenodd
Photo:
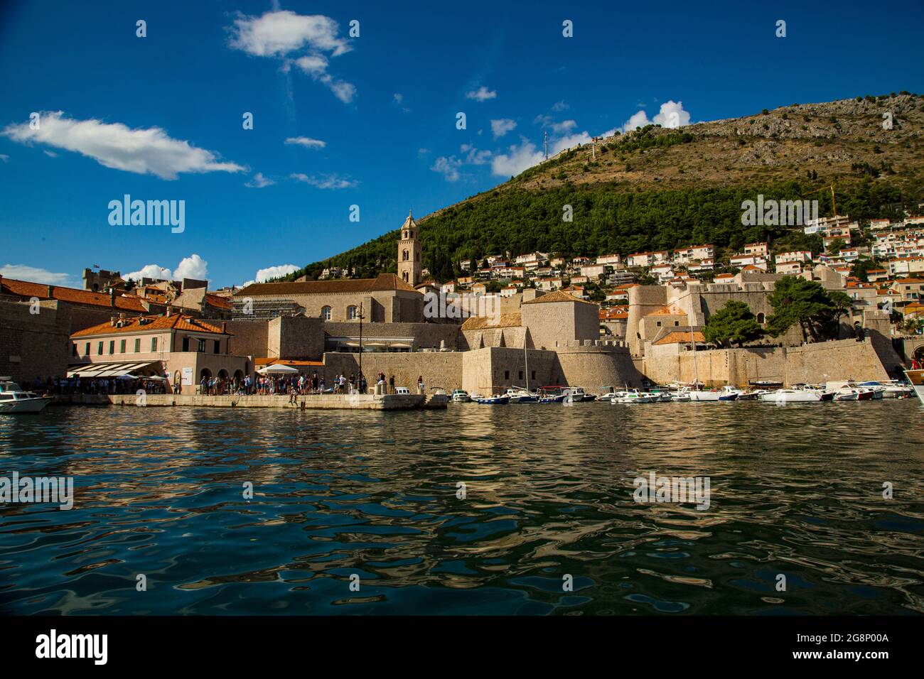
<path fill-rule="evenodd" d="M 791 386 L 800 382 L 820 383 L 853 379 L 887 380 L 873 339 L 820 342 L 803 346 L 755 346 L 742 349 L 712 349 L 694 354 L 680 345 L 652 346 L 643 361 L 645 375 L 653 382 L 693 382 L 694 375 L 707 386 L 770 380 Z"/>

